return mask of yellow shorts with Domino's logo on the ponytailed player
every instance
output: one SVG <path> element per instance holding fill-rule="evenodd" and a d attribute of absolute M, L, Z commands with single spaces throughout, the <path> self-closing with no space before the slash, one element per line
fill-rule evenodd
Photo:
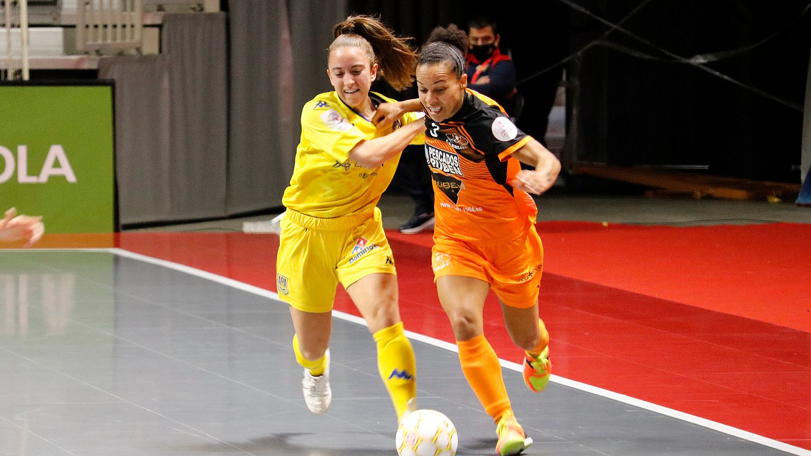
<path fill-rule="evenodd" d="M 380 209 L 346 217 L 311 217 L 287 209 L 281 219 L 276 287 L 303 312 L 333 310 L 335 290 L 372 273 L 394 274 Z"/>

